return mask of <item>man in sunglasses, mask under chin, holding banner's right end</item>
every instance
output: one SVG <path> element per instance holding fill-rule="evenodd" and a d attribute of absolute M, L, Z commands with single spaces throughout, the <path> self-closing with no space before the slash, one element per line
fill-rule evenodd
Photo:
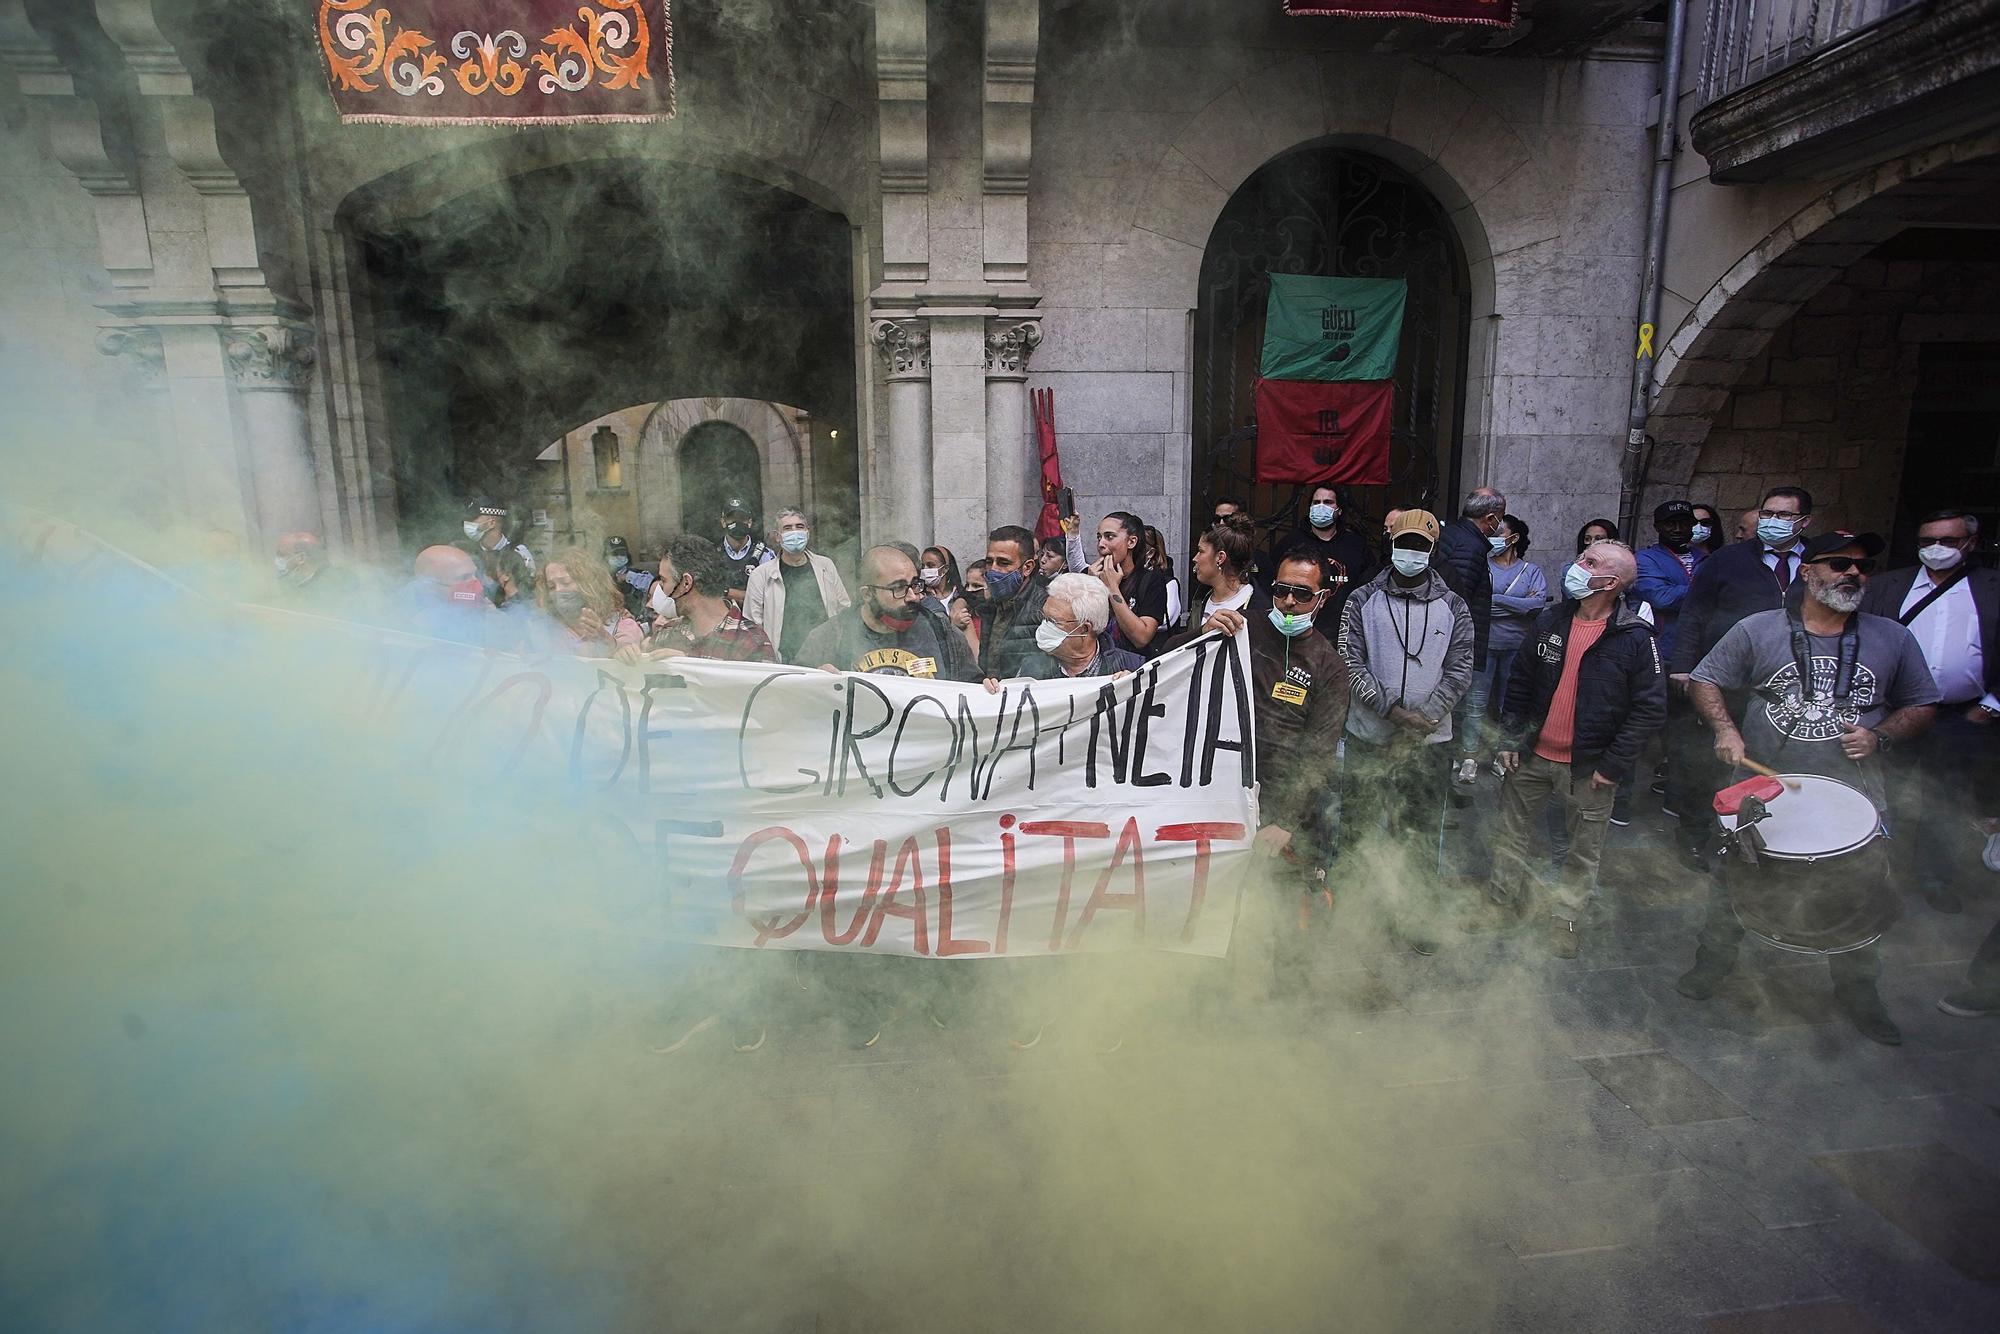
<path fill-rule="evenodd" d="M 1270 582 L 1270 610 L 1214 610 L 1202 630 L 1250 636 L 1256 708 L 1258 864 L 1264 876 L 1244 900 L 1246 930 L 1232 948 L 1240 976 L 1276 996 L 1308 982 L 1312 930 L 1330 920 L 1326 864 L 1332 836 L 1334 748 L 1348 718 L 1348 666 L 1314 628 L 1326 602 L 1318 552 L 1288 550 Z"/>

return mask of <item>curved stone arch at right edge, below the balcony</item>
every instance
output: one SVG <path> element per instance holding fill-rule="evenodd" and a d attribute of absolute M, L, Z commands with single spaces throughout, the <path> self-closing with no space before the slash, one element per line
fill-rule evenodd
<path fill-rule="evenodd" d="M 1720 452 L 1740 452 L 1742 442 L 1716 438 L 1718 428 L 1738 424 L 1738 414 L 1744 418 L 1740 424 L 1752 430 L 1784 426 L 1782 392 L 1752 394 L 1754 402 L 1738 406 L 1746 374 L 1762 374 L 1758 368 L 1768 366 L 1772 340 L 1876 246 L 1910 226 L 1950 218 L 1968 204 L 1990 216 L 1990 206 L 1980 202 L 1994 192 L 2000 192 L 2000 134 L 1986 134 L 1868 168 L 1808 202 L 1752 246 L 1702 294 L 1660 350 L 1648 416 L 1654 446 L 1640 512 L 1650 512 L 1658 500 L 1686 496 L 1698 480 L 1700 486 L 1714 486 L 1716 474 L 1748 478 L 1734 496 L 1696 496 L 1728 508 L 1754 502 L 1756 496 L 1744 496 L 1764 486 L 1764 474 L 1792 474 L 1796 480 L 1820 470 L 1826 460 L 1818 456 L 1832 448 L 1824 440 L 1812 440 L 1802 450 L 1796 442 L 1774 446 L 1782 458 L 1766 460 L 1768 468 L 1720 458 Z M 1796 388 L 1810 394 L 1810 386 Z M 1766 420 L 1772 412 L 1778 416 Z M 1818 420 L 1814 412 L 1812 422 Z M 1820 434 L 1810 422 L 1802 426 L 1806 436 Z"/>

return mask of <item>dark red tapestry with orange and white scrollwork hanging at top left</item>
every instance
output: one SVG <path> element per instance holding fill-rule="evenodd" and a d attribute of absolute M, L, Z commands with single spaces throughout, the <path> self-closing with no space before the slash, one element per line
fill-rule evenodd
<path fill-rule="evenodd" d="M 590 124 L 674 114 L 668 0 L 310 0 L 340 120 Z"/>

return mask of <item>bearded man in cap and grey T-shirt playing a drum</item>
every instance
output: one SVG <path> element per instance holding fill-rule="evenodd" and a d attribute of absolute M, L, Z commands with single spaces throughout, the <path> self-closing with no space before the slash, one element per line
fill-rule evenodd
<path fill-rule="evenodd" d="M 1750 928 L 1774 946 L 1824 954 L 1840 1012 L 1864 1036 L 1894 1046 L 1902 1032 L 1876 992 L 1876 942 L 1902 908 L 1868 806 L 1846 788 L 1866 796 L 1876 816 L 1886 810 L 1880 754 L 1930 726 L 1938 686 L 1904 626 L 1860 612 L 1882 546 L 1872 532 L 1812 538 L 1784 608 L 1744 616 L 1694 668 L 1688 698 L 1714 730 L 1716 758 L 1738 778 L 1748 758 L 1834 784 L 1814 780 L 1770 800 L 1774 824 L 1784 814 L 1792 830 L 1824 828 L 1824 848 L 1788 846 L 1774 860 L 1738 836 L 1694 968 L 1676 988 L 1708 1000 Z M 1724 690 L 1748 690 L 1740 730 Z M 1814 804 L 1824 810 L 1804 810 Z M 1846 828 L 1854 818 L 1840 812 L 1856 808 L 1862 828 Z"/>

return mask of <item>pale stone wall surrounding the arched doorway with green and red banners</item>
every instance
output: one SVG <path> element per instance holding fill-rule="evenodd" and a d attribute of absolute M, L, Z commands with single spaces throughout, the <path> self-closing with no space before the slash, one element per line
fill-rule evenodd
<path fill-rule="evenodd" d="M 1188 548 L 1210 228 L 1272 158 L 1338 144 L 1414 174 L 1466 250 L 1460 484 L 1500 486 L 1544 532 L 1616 512 L 1654 78 L 1612 60 L 1070 46 L 1058 24 L 1028 196 L 1046 334 L 1032 382 L 1056 390 L 1078 506 L 1136 510 Z"/>

